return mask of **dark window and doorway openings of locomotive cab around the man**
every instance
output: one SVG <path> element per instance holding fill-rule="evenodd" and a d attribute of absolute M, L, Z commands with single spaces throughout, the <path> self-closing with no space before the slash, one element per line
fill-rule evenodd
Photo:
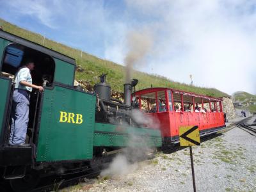
<path fill-rule="evenodd" d="M 31 59 L 35 63 L 35 70 L 31 71 L 31 77 L 33 84 L 41 86 L 52 86 L 55 63 L 51 56 L 45 53 L 36 51 L 24 45 L 12 43 L 7 45 L 3 52 L 3 59 L 1 63 L 1 74 L 7 79 L 11 79 L 12 84 L 10 86 L 10 96 L 8 102 L 8 110 L 6 111 L 6 124 L 3 129 L 5 131 L 3 145 L 8 145 L 8 138 L 10 136 L 10 124 L 11 122 L 11 111 L 12 111 L 12 95 L 15 84 L 13 83 L 15 74 L 24 65 L 24 61 Z M 40 93 L 33 89 L 30 94 L 29 102 L 29 122 L 28 131 L 26 136 L 26 143 L 33 143 L 33 133 L 36 126 L 36 114 L 40 108 Z"/>

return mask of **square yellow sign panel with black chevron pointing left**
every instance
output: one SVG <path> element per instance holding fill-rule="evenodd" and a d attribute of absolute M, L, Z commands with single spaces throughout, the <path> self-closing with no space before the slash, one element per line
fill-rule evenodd
<path fill-rule="evenodd" d="M 198 126 L 180 126 L 180 146 L 200 145 Z"/>

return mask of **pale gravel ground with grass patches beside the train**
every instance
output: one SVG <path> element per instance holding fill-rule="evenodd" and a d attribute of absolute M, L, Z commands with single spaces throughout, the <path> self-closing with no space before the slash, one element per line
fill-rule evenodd
<path fill-rule="evenodd" d="M 255 152 L 256 137 L 238 127 L 193 147 L 196 190 L 256 191 Z M 130 166 L 124 175 L 85 179 L 62 191 L 193 191 L 189 148 Z"/>

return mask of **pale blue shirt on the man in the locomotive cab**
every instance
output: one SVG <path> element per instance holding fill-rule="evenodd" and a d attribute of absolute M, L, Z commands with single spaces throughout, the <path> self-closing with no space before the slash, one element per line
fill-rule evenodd
<path fill-rule="evenodd" d="M 32 92 L 31 87 L 20 84 L 20 81 L 27 81 L 28 83 L 32 84 L 32 78 L 28 67 L 20 68 L 19 72 L 17 72 L 15 75 L 14 83 L 16 89 L 28 90 L 29 92 Z"/>

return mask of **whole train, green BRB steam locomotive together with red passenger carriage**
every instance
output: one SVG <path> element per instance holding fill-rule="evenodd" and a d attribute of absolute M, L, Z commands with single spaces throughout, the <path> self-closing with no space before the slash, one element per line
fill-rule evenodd
<path fill-rule="evenodd" d="M 43 84 L 44 92 L 31 93 L 29 147 L 15 147 L 8 145 L 13 77 L 26 58 L 35 60 L 33 84 Z M 29 191 L 48 175 L 84 172 L 125 147 L 178 143 L 180 126 L 198 125 L 201 136 L 225 127 L 220 98 L 171 88 L 132 92 L 138 83 L 132 79 L 122 102 L 111 98 L 105 74 L 93 93 L 84 92 L 74 86 L 74 59 L 5 31 L 0 61 L 0 187 L 10 182 L 13 191 Z M 208 111 L 195 113 L 198 104 Z"/>

